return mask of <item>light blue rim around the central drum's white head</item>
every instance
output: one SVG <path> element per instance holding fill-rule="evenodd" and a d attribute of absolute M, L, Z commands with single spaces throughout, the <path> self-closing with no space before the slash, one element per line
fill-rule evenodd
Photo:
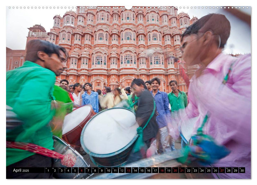
<path fill-rule="evenodd" d="M 132 112 L 134 115 L 136 115 L 132 110 L 130 109 L 127 109 L 127 108 L 124 108 L 124 107 L 113 107 L 113 108 L 110 108 L 110 109 L 126 109 L 126 110 L 129 110 L 130 112 Z M 110 110 L 110 109 L 105 109 L 99 113 L 97 113 L 96 115 L 99 115 L 101 114 L 102 112 L 105 112 L 107 110 Z M 111 156 L 114 156 L 114 155 L 117 155 L 121 152 L 123 152 L 124 150 L 128 149 L 128 147 L 130 147 L 137 139 L 138 137 L 138 134 L 136 133 L 136 135 L 133 137 L 133 139 L 126 145 L 124 146 L 122 149 L 118 150 L 118 151 L 115 151 L 115 152 L 112 152 L 112 153 L 109 153 L 109 154 L 97 154 L 97 153 L 94 153 L 94 152 L 91 152 L 90 150 L 87 149 L 87 147 L 84 145 L 84 141 L 83 141 L 83 133 L 85 131 L 85 128 L 88 126 L 88 123 L 92 121 L 92 119 L 96 116 L 94 115 L 91 119 L 89 119 L 89 121 L 87 122 L 87 124 L 85 124 L 85 126 L 83 127 L 82 131 L 81 131 L 81 135 L 80 135 L 80 144 L 83 148 L 83 150 L 85 152 L 87 152 L 88 155 L 92 155 L 94 157 L 100 157 L 100 158 L 105 158 L 105 157 L 111 157 Z"/>

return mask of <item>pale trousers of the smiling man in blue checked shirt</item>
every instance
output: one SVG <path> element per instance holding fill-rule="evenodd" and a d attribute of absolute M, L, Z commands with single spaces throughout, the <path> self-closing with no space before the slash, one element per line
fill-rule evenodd
<path fill-rule="evenodd" d="M 171 151 L 169 140 L 170 138 L 169 138 L 167 126 L 159 128 L 159 131 L 156 136 L 156 147 L 157 147 L 158 154 Z M 175 142 L 174 142 L 174 145 L 175 145 Z"/>

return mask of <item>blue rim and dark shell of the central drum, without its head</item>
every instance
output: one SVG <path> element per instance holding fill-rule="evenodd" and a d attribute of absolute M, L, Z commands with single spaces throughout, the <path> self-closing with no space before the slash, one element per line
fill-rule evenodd
<path fill-rule="evenodd" d="M 117 109 L 117 108 L 111 108 L 111 109 Z M 119 108 L 119 109 L 126 109 L 126 108 Z M 107 111 L 107 110 L 110 110 L 110 109 L 106 109 L 106 110 L 103 110 L 103 111 Z M 129 109 L 126 109 L 130 112 L 133 112 Z M 101 111 L 99 114 L 101 114 L 103 111 Z M 95 115 L 95 116 L 98 116 L 99 114 Z M 133 112 L 134 114 L 134 112 Z M 94 117 L 95 117 L 94 116 Z M 91 120 L 94 118 L 92 117 Z M 89 120 L 88 123 L 91 121 Z M 82 148 L 84 149 L 85 152 L 87 152 L 87 154 L 89 154 L 92 162 L 101 167 L 115 167 L 115 166 L 122 166 L 124 165 L 129 156 L 130 156 L 130 153 L 134 147 L 134 143 L 135 141 L 137 140 L 137 137 L 138 137 L 138 134 L 136 134 L 133 139 L 129 142 L 129 144 L 127 144 L 126 146 L 124 146 L 122 149 L 118 150 L 118 151 L 115 151 L 115 152 L 112 152 L 110 154 L 96 154 L 94 152 L 91 152 L 90 150 L 87 149 L 87 147 L 84 145 L 84 142 L 83 142 L 83 133 L 84 133 L 84 130 L 86 129 L 87 125 L 85 125 L 85 127 L 83 128 L 82 132 L 81 132 L 81 136 L 80 136 L 80 143 L 82 145 Z"/>

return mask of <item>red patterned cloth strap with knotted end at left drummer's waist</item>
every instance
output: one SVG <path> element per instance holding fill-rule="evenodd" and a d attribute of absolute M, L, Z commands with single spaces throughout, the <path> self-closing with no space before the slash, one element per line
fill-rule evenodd
<path fill-rule="evenodd" d="M 72 154 L 62 155 L 58 152 L 49 150 L 47 148 L 44 148 L 42 146 L 38 146 L 38 145 L 35 145 L 32 143 L 6 141 L 6 147 L 30 151 L 30 152 L 44 155 L 47 157 L 51 157 L 54 159 L 61 159 L 61 164 L 64 166 L 67 166 L 67 167 L 72 167 L 76 163 L 76 156 L 74 156 Z"/>

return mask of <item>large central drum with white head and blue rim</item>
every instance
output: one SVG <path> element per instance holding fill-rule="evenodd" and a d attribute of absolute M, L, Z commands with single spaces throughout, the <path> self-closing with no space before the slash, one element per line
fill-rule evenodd
<path fill-rule="evenodd" d="M 131 110 L 106 109 L 88 121 L 80 142 L 97 166 L 121 166 L 133 149 L 137 128 L 136 116 Z"/>

